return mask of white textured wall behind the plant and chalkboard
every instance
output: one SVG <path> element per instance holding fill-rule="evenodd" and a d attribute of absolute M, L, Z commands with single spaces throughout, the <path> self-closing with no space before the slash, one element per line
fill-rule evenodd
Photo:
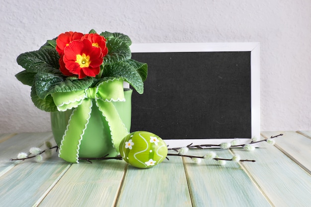
<path fill-rule="evenodd" d="M 260 42 L 261 130 L 311 130 L 311 0 L 1 0 L 0 133 L 50 131 L 16 57 L 65 31 L 133 43 Z"/>

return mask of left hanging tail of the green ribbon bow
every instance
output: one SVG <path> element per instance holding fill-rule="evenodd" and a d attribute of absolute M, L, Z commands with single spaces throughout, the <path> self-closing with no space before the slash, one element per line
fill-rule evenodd
<path fill-rule="evenodd" d="M 68 162 L 78 163 L 79 146 L 90 118 L 91 107 L 92 101 L 84 99 L 70 116 L 59 150 L 59 157 Z"/>

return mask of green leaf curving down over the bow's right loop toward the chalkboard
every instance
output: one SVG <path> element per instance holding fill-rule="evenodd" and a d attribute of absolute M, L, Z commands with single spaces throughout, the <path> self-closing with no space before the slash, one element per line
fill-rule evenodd
<path fill-rule="evenodd" d="M 144 93 L 144 82 L 137 69 L 128 62 L 121 62 L 114 65 L 106 65 L 104 69 L 106 77 L 122 77 L 130 83 L 140 94 Z"/>

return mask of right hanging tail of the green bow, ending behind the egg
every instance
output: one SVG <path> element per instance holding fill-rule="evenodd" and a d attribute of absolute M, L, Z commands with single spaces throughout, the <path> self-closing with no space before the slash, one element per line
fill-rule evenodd
<path fill-rule="evenodd" d="M 108 123 L 112 144 L 116 151 L 119 152 L 119 145 L 121 140 L 129 133 L 112 102 L 97 99 L 96 104 Z"/>

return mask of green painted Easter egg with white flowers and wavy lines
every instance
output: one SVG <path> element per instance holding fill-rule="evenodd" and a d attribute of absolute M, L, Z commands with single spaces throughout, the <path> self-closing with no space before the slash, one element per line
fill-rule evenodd
<path fill-rule="evenodd" d="M 167 155 L 166 143 L 150 132 L 133 132 L 119 145 L 122 158 L 138 168 L 149 168 L 161 163 Z"/>

